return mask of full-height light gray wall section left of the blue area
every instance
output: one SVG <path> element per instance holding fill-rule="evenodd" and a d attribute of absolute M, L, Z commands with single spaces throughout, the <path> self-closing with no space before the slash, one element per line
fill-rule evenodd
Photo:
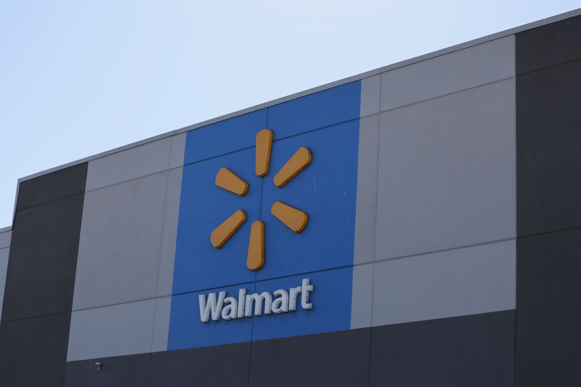
<path fill-rule="evenodd" d="M 166 349 L 184 136 L 89 161 L 67 360 Z"/>

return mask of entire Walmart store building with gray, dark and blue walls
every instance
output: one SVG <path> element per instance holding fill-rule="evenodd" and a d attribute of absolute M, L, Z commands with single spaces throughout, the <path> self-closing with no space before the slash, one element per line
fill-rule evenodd
<path fill-rule="evenodd" d="M 579 385 L 580 14 L 20 179 L 0 385 Z"/>

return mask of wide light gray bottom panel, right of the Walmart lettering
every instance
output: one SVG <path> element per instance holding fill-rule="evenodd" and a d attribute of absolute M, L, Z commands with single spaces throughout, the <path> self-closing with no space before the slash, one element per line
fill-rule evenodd
<path fill-rule="evenodd" d="M 373 325 L 515 308 L 515 240 L 375 262 Z"/>

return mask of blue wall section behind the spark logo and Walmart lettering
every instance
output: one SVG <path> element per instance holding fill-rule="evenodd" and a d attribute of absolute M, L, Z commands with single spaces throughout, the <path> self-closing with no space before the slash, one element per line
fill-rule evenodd
<path fill-rule="evenodd" d="M 350 328 L 360 87 L 352 82 L 187 133 L 168 349 Z M 273 142 L 270 169 L 261 178 L 255 141 L 265 128 Z M 300 147 L 310 150 L 310 164 L 275 186 L 273 177 Z M 248 192 L 218 187 L 221 168 L 248 183 Z M 277 201 L 308 214 L 300 233 L 272 215 Z M 211 232 L 238 210 L 245 221 L 214 247 Z M 246 258 L 257 220 L 264 223 L 264 266 L 253 271 Z M 304 279 L 312 292 L 310 285 L 300 290 Z M 259 314 L 258 298 L 240 309 L 253 294 L 262 296 Z M 307 296 L 312 309 L 304 308 Z M 277 299 L 278 313 L 271 312 Z M 235 308 L 248 317 L 233 318 Z"/>

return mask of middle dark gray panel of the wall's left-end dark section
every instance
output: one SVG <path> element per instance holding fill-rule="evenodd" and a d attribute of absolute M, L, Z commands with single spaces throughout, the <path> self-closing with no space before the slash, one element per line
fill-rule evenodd
<path fill-rule="evenodd" d="M 2 321 L 71 310 L 83 197 L 16 211 Z"/>

